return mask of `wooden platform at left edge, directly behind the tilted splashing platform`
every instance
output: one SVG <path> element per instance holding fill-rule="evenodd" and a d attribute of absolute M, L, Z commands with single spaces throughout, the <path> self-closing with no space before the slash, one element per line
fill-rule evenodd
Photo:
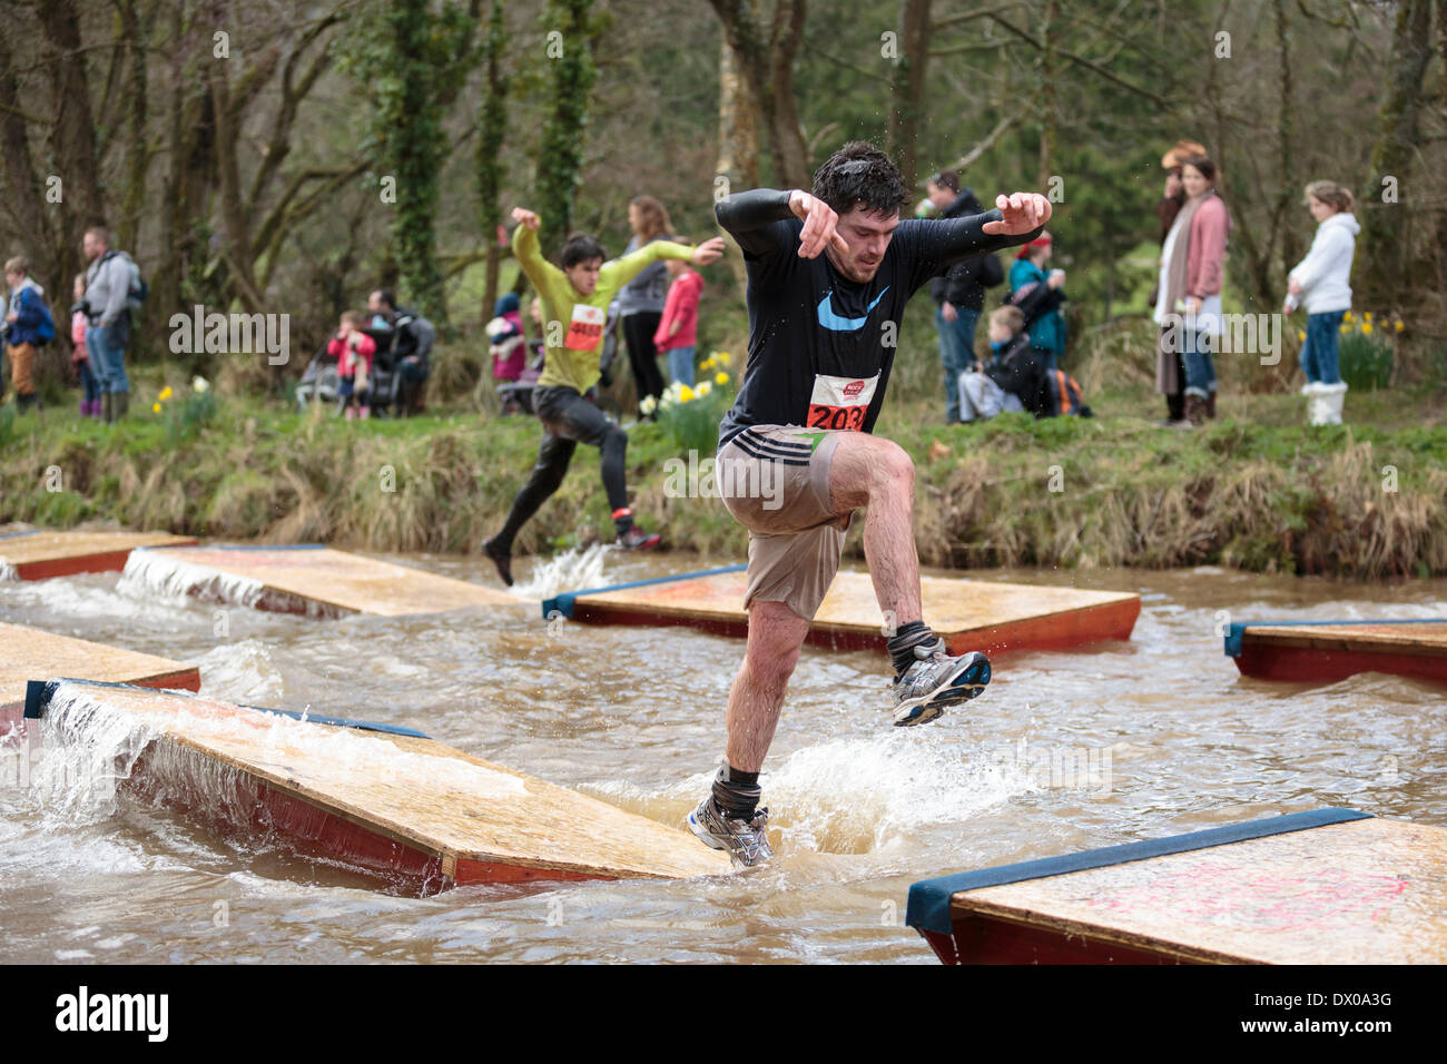
<path fill-rule="evenodd" d="M 82 676 L 142 688 L 200 691 L 194 664 L 0 622 L 0 735 L 19 724 L 35 676 Z"/>

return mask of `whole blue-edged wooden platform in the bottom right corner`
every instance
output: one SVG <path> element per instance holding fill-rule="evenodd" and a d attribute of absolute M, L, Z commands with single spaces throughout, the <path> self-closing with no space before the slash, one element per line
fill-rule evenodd
<path fill-rule="evenodd" d="M 1447 828 L 1318 809 L 925 880 L 906 922 L 946 964 L 1443 964 L 1444 911 Z"/>

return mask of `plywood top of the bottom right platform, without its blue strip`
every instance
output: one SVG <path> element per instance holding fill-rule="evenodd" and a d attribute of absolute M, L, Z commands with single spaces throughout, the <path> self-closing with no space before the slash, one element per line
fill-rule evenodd
<path fill-rule="evenodd" d="M 1441 964 L 1444 911 L 1447 829 L 1380 818 L 951 899 L 956 924 L 1006 922 L 1205 963 Z"/>

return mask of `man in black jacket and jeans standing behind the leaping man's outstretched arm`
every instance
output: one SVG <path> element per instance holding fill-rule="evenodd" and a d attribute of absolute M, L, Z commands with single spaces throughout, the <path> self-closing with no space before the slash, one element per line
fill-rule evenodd
<path fill-rule="evenodd" d="M 932 217 L 958 219 L 984 214 L 972 188 L 959 187 L 959 174 L 942 169 L 925 185 Z M 929 282 L 935 300 L 935 329 L 939 332 L 939 362 L 945 369 L 945 424 L 961 420 L 959 375 L 975 362 L 975 326 L 985 305 L 985 288 L 1004 281 L 1000 259 L 971 255 Z"/>

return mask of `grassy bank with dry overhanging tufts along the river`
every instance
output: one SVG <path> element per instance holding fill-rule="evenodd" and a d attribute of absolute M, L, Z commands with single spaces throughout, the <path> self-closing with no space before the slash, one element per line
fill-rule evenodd
<path fill-rule="evenodd" d="M 1016 414 L 948 428 L 933 401 L 891 400 L 880 433 L 919 470 L 922 560 L 1447 573 L 1447 426 L 1430 389 L 1353 394 L 1353 424 L 1340 428 L 1301 424 L 1295 395 L 1227 395 L 1223 418 L 1192 433 L 1155 427 L 1159 398 L 1140 384 L 1091 400 L 1094 420 Z M 69 410 L 0 418 L 0 523 L 98 520 L 232 540 L 469 553 L 501 523 L 538 442 L 531 418 L 476 411 L 347 424 L 233 398 L 187 426 L 174 410 L 137 408 L 116 428 Z M 742 557 L 744 534 L 722 504 L 666 491 L 666 462 L 677 453 L 658 426 L 632 431 L 640 520 L 674 549 Z M 582 447 L 518 549 L 606 536 L 598 456 Z M 861 550 L 857 534 L 849 550 Z"/>

